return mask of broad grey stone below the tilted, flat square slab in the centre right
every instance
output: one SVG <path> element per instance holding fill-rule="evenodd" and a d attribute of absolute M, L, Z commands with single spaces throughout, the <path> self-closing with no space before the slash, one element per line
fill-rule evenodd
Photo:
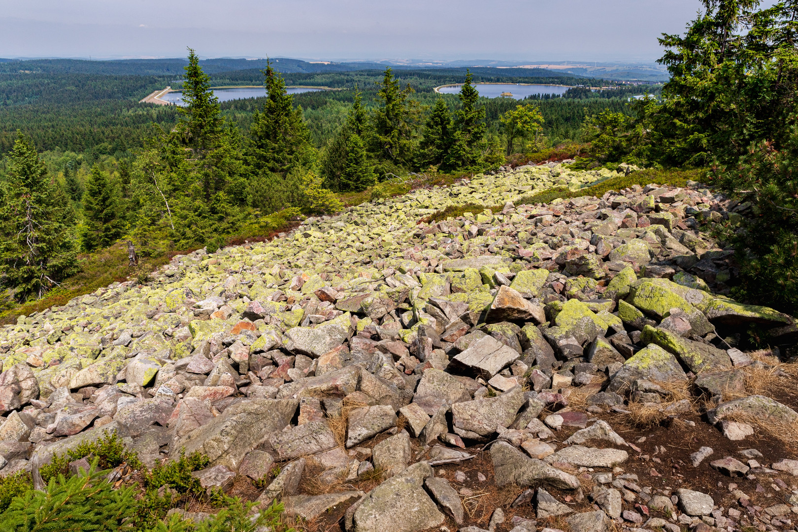
<path fill-rule="evenodd" d="M 497 427 L 509 427 L 524 402 L 521 388 L 516 387 L 500 396 L 452 404 L 452 423 L 460 430 L 491 435 Z"/>

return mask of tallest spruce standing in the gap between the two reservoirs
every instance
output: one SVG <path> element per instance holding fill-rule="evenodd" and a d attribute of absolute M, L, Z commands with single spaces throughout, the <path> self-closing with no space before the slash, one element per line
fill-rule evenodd
<path fill-rule="evenodd" d="M 419 114 L 417 102 L 409 100 L 413 88 L 408 85 L 400 89 L 390 67 L 385 69 L 382 83 L 377 85 L 380 90 L 378 106 L 372 116 L 373 132 L 369 136 L 371 150 L 378 159 L 408 165 L 413 159 L 415 123 Z"/>

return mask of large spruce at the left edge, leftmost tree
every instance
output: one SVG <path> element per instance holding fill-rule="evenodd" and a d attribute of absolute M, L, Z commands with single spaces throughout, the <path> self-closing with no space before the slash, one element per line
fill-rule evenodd
<path fill-rule="evenodd" d="M 30 137 L 17 132 L 0 201 L 0 282 L 19 300 L 41 298 L 75 271 L 74 213 Z"/>

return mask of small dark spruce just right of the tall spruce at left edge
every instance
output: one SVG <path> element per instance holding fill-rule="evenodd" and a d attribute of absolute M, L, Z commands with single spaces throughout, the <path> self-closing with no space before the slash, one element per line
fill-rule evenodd
<path fill-rule="evenodd" d="M 85 225 L 81 231 L 81 243 L 85 250 L 108 247 L 120 238 L 119 199 L 117 184 L 109 179 L 107 171 L 95 165 L 84 195 Z"/>

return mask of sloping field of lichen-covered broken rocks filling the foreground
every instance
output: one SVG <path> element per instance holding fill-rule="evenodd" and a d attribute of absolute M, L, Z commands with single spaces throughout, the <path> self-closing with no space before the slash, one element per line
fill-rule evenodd
<path fill-rule="evenodd" d="M 20 317 L 0 475 L 41 487 L 115 433 L 305 530 L 796 530 L 798 327 L 724 295 L 701 231 L 749 206 L 694 182 L 520 204 L 610 174 L 476 175 Z M 504 207 L 420 222 L 465 204 Z"/>

